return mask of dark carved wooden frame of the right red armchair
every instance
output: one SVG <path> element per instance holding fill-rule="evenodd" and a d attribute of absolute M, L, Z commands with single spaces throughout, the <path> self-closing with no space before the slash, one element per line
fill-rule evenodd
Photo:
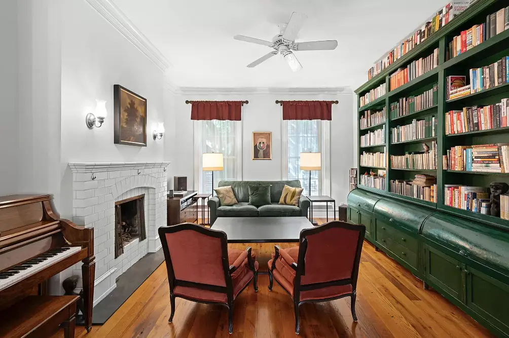
<path fill-rule="evenodd" d="M 359 231 L 359 238 L 357 242 L 357 250 L 355 253 L 355 261 L 352 269 L 352 275 L 350 278 L 345 279 L 338 279 L 338 280 L 331 280 L 326 281 L 323 283 L 314 283 L 314 284 L 304 284 L 302 285 L 300 283 L 301 276 L 305 275 L 305 256 L 306 256 L 306 250 L 307 250 L 307 239 L 306 237 L 309 235 L 314 235 L 317 233 L 320 233 L 322 231 L 325 231 L 330 228 L 344 228 L 349 230 L 355 230 Z M 274 246 L 275 249 L 275 256 L 272 260 L 272 266 L 269 269 L 269 290 L 272 291 L 273 286 L 273 280 L 275 279 L 277 284 L 285 290 L 293 299 L 293 305 L 295 310 L 295 333 L 299 334 L 299 306 L 304 303 L 316 303 L 316 302 L 325 302 L 335 299 L 340 299 L 344 297 L 351 297 L 351 311 L 352 311 L 352 317 L 354 321 L 357 321 L 357 314 L 355 313 L 355 301 L 357 298 L 357 277 L 359 274 L 359 264 L 360 264 L 360 255 L 362 252 L 362 243 L 364 241 L 364 235 L 366 232 L 366 228 L 363 225 L 357 225 L 357 224 L 350 224 L 347 222 L 334 220 L 330 221 L 328 223 L 323 224 L 322 226 L 315 227 L 312 229 L 304 229 L 300 232 L 299 235 L 299 256 L 297 263 L 292 263 L 290 266 L 292 269 L 295 270 L 295 279 L 293 283 L 293 297 L 292 295 L 279 283 L 277 279 L 274 278 L 272 271 L 276 268 L 276 260 L 280 257 L 279 250 L 281 249 L 278 245 Z M 341 259 L 341 257 L 338 257 L 337 259 Z M 330 298 L 321 298 L 321 299 L 309 299 L 309 300 L 300 300 L 300 292 L 301 291 L 310 291 L 310 290 L 316 290 L 326 287 L 332 287 L 332 286 L 344 286 L 344 285 L 352 285 L 352 292 L 347 294 L 342 294 L 337 297 L 330 297 Z"/>

